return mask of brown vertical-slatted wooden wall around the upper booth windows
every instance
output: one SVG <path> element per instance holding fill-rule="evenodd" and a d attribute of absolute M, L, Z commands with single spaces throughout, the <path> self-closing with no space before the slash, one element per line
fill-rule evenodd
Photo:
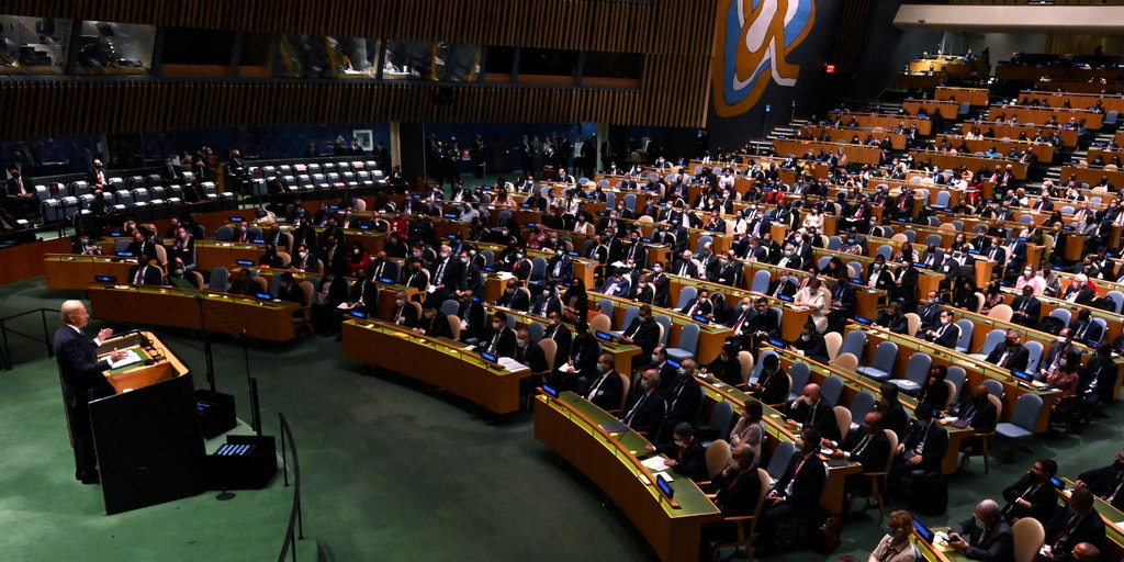
<path fill-rule="evenodd" d="M 643 54 L 640 89 L 377 81 L 24 79 L 0 82 L 6 136 L 378 120 L 696 127 L 717 0 L 0 1 L 0 13 Z M 437 105 L 439 88 L 451 103 Z"/>

